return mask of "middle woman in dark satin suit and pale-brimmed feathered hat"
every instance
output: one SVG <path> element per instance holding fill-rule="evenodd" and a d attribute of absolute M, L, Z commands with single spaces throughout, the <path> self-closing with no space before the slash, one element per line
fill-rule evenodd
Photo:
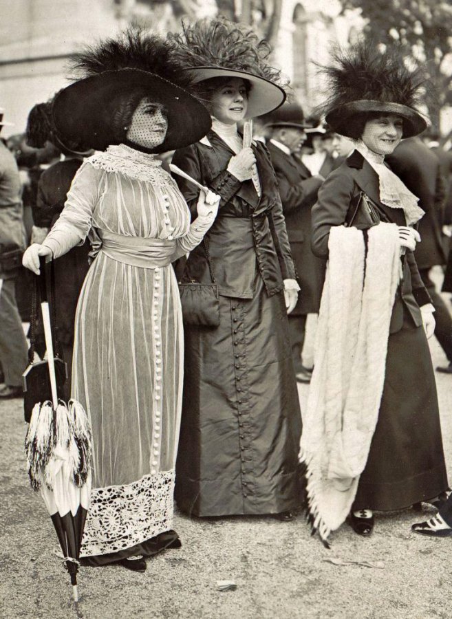
<path fill-rule="evenodd" d="M 228 56 L 231 41 L 242 45 L 231 45 Z M 235 64 L 234 50 L 257 50 L 256 37 L 248 40 L 237 24 L 197 22 L 178 43 L 187 66 L 209 64 L 193 68 L 193 91 L 211 111 L 213 129 L 176 151 L 173 163 L 212 188 L 221 202 L 206 243 L 191 252 L 183 276 L 211 283 L 210 260 L 220 325 L 184 329 L 175 497 L 180 509 L 195 516 L 290 519 L 299 501 L 301 415 L 286 314 L 297 301 L 298 285 L 268 153 L 260 142 L 244 148 L 237 132 L 237 122 L 281 105 L 285 95 L 266 79 L 272 73 L 276 82 L 275 71 L 263 70 L 263 58 L 249 72 L 249 56 Z M 206 61 L 216 54 L 218 64 Z M 195 216 L 199 191 L 177 182 Z"/>

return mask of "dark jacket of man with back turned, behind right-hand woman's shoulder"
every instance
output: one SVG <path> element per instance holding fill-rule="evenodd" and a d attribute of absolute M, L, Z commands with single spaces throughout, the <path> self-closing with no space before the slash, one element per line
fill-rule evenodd
<path fill-rule="evenodd" d="M 418 267 L 445 264 L 442 221 L 446 191 L 438 157 L 419 138 L 409 138 L 400 142 L 386 161 L 425 211 L 418 226 L 421 242 L 414 252 Z"/>

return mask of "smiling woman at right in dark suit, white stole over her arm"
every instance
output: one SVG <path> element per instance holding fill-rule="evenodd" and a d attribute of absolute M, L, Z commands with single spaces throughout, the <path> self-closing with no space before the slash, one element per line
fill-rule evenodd
<path fill-rule="evenodd" d="M 363 470 L 360 470 L 360 475 L 354 476 L 349 485 L 349 488 L 354 488 L 354 496 L 351 495 L 349 503 L 349 522 L 356 533 L 367 535 L 372 532 L 374 525 L 373 510 L 407 508 L 418 501 L 431 499 L 447 488 L 438 399 L 427 344 L 427 337 L 434 330 L 433 307 L 413 257 L 416 241 L 420 239 L 411 226 L 416 224 L 423 212 L 417 205 L 417 198 L 384 163 L 385 155 L 394 151 L 402 137 L 420 133 L 425 129 L 426 122 L 414 107 L 415 80 L 403 67 L 402 59 L 394 56 L 393 52 L 378 56 L 365 45 L 357 45 L 348 56 L 339 53 L 336 65 L 327 67 L 327 75 L 333 92 L 327 104 L 327 122 L 334 131 L 352 138 L 355 150 L 330 174 L 319 191 L 318 202 L 312 208 L 312 249 L 317 256 L 330 257 L 331 260 L 330 232 L 336 227 L 347 226 L 345 222 L 349 222 L 351 206 L 356 207 L 358 196 L 364 194 L 367 202 L 369 199 L 372 201 L 378 213 L 377 219 L 386 222 L 385 226 L 393 226 L 389 229 L 395 232 L 396 239 L 398 237 L 395 264 L 397 269 L 398 263 L 402 272 L 394 287 L 395 294 L 389 299 L 387 354 L 385 360 L 383 357 L 382 389 L 378 395 L 379 406 L 378 400 L 376 406 L 376 425 L 372 428 L 373 436 L 371 433 Z M 373 238 L 373 226 L 366 224 L 360 217 L 359 214 L 352 225 L 358 230 L 364 230 L 362 234 L 366 243 L 365 252 L 368 254 L 370 245 L 367 245 L 367 237 Z M 394 224 L 398 228 L 394 228 Z M 383 225 L 377 228 L 383 230 Z M 348 233 L 356 235 L 351 229 Z M 345 252 L 345 249 L 342 248 L 342 251 Z M 365 262 L 365 268 L 368 272 L 368 262 Z M 355 303 L 358 303 L 358 299 Z M 380 316 L 385 311 L 380 303 Z M 344 317 L 344 320 L 349 321 L 349 316 Z M 345 326 L 346 323 L 343 323 Z M 367 340 L 366 345 L 369 347 L 372 342 Z M 327 349 L 317 352 L 320 357 L 322 354 L 334 355 L 335 351 Z M 347 360 L 341 360 L 338 371 L 346 363 Z M 317 367 L 314 373 L 316 370 Z M 374 371 L 377 371 L 375 367 Z M 356 389 L 358 378 L 359 375 L 352 373 L 349 391 Z M 315 383 L 315 377 L 313 381 Z M 358 389 L 365 390 L 366 384 L 358 384 Z M 316 394 L 311 395 L 310 404 L 314 404 Z M 345 396 L 340 411 L 343 419 L 346 418 L 349 404 L 349 400 L 344 404 Z M 334 523 L 332 501 L 327 505 L 327 493 L 322 497 L 319 487 L 314 487 L 313 480 L 321 476 L 319 470 L 316 470 L 316 456 L 312 453 L 306 456 L 306 453 L 309 454 L 312 449 L 312 437 L 316 435 L 313 428 L 319 428 L 319 422 L 310 417 L 310 408 L 314 408 L 310 404 L 302 449 L 305 450 L 310 480 L 310 515 L 314 528 L 319 530 L 323 541 L 326 541 L 330 530 L 337 528 L 343 519 Z M 360 409 L 362 419 L 366 413 L 364 408 Z M 327 428 L 330 421 L 327 417 L 325 419 Z M 354 435 L 358 446 L 356 436 L 361 431 L 362 427 L 358 423 Z M 322 431 L 318 430 L 317 435 L 322 436 Z M 326 444 L 328 440 L 330 437 L 325 437 L 323 431 L 323 443 Z M 343 453 L 346 453 L 344 439 L 341 445 Z M 331 453 L 330 450 L 330 466 L 325 466 L 326 460 L 319 465 L 321 470 L 327 470 L 322 484 L 327 475 L 331 475 L 330 479 L 334 478 L 331 472 L 337 464 L 338 455 L 336 453 L 333 457 Z M 348 462 L 351 461 L 352 457 Z M 339 481 L 341 479 L 336 475 L 336 490 Z M 341 490 L 348 491 L 346 486 L 349 480 L 347 484 L 342 481 Z"/>

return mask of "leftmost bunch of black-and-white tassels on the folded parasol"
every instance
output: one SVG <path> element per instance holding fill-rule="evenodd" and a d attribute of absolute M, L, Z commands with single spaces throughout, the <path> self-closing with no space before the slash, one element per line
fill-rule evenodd
<path fill-rule="evenodd" d="M 41 487 L 41 469 L 47 464 L 54 445 L 54 418 L 50 402 L 35 404 L 30 426 L 25 436 L 25 455 L 30 484 L 34 490 Z"/>

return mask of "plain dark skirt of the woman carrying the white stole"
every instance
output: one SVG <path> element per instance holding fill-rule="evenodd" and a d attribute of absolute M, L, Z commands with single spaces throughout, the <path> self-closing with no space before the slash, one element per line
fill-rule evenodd
<path fill-rule="evenodd" d="M 408 323 L 389 336 L 385 386 L 354 510 L 398 510 L 448 487 L 427 338 Z"/>

